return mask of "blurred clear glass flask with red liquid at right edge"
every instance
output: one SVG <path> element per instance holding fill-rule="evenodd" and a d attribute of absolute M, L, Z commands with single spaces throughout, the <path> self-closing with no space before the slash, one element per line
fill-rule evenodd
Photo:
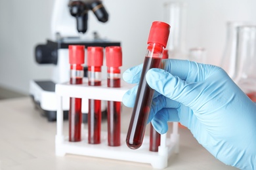
<path fill-rule="evenodd" d="M 238 86 L 256 102 L 256 25 L 238 27 Z"/>

